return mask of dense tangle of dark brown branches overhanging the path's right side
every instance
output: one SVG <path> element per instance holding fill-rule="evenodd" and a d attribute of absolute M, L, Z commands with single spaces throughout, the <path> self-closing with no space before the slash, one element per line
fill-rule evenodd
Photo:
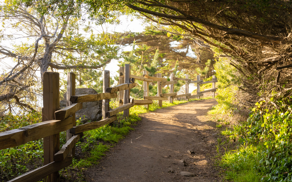
<path fill-rule="evenodd" d="M 166 31 L 210 45 L 239 72 L 247 102 L 291 96 L 291 1 L 119 2 Z"/>

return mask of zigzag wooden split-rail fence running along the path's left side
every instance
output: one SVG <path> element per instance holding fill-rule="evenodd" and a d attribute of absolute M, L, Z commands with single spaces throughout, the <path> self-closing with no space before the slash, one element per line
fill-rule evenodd
<path fill-rule="evenodd" d="M 67 107 L 60 109 L 59 103 L 59 73 L 45 72 L 43 75 L 43 122 L 25 126 L 22 128 L 0 133 L 0 150 L 19 146 L 27 142 L 44 139 L 44 166 L 22 174 L 9 182 L 34 182 L 42 178 L 45 182 L 60 181 L 59 170 L 72 164 L 72 157 L 75 154 L 75 144 L 83 136 L 83 132 L 93 130 L 117 120 L 117 114 L 124 111 L 124 116 L 129 116 L 129 108 L 134 105 L 148 105 L 153 100 L 158 100 L 159 106 L 162 106 L 162 100 L 173 102 L 174 98 L 186 97 L 186 99 L 203 96 L 203 93 L 214 92 L 217 79 L 213 76 L 212 81 L 203 82 L 200 76 L 197 81 L 192 81 L 185 75 L 185 78 L 173 77 L 171 81 L 162 78 L 161 73 L 157 77 L 148 75 L 144 71 L 143 77 L 131 75 L 131 67 L 126 64 L 120 67 L 119 85 L 109 87 L 109 71 L 105 70 L 103 74 L 103 93 L 78 95 L 75 96 L 75 74 L 67 74 Z M 134 100 L 130 98 L 130 89 L 138 84 L 135 80 L 144 81 L 144 99 Z M 174 84 L 178 80 L 185 81 L 185 94 L 177 95 L 173 93 Z M 149 96 L 149 82 L 157 82 L 158 96 Z M 188 84 L 197 83 L 197 94 L 188 93 Z M 200 84 L 213 83 L 212 89 L 200 91 Z M 162 93 L 162 86 L 171 85 L 170 93 Z M 119 92 L 119 107 L 109 110 L 109 99 L 117 98 Z M 102 120 L 85 123 L 79 126 L 75 124 L 75 112 L 82 109 L 82 103 L 102 100 Z M 60 132 L 66 131 L 66 144 L 60 149 Z"/>

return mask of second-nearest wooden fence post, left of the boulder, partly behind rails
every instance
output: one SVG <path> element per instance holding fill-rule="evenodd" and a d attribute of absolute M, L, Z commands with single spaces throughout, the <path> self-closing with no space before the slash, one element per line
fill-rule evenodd
<path fill-rule="evenodd" d="M 66 95 L 66 106 L 69 106 L 72 104 L 70 102 L 70 97 L 75 96 L 75 79 L 76 75 L 72 72 L 67 73 L 67 95 Z M 73 126 L 76 126 L 75 123 L 75 112 L 72 114 L 74 117 L 74 123 Z M 70 133 L 70 130 L 66 131 L 66 142 L 72 137 L 73 135 Z M 73 147 L 72 151 L 69 151 L 69 155 L 72 155 L 72 157 L 75 156 L 75 146 Z"/>

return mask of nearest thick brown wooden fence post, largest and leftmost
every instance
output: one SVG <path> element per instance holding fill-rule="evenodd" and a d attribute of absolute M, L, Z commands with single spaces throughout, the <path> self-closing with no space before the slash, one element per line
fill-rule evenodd
<path fill-rule="evenodd" d="M 60 109 L 59 73 L 45 72 L 43 75 L 43 121 L 55 119 L 55 111 Z M 54 161 L 54 155 L 60 150 L 60 134 L 44 137 L 44 165 Z M 44 178 L 45 182 L 59 182 L 59 172 Z"/>

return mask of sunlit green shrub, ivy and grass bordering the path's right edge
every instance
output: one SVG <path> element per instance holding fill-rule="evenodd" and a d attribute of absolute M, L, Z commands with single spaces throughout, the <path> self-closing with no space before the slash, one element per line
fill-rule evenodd
<path fill-rule="evenodd" d="M 230 124 L 224 117 L 234 120 L 234 115 L 241 111 L 234 100 L 234 92 L 229 90 L 218 90 L 219 104 L 209 112 L 214 116 L 225 113 L 219 116 L 218 128 L 222 123 Z M 218 149 L 223 181 L 292 181 L 291 98 L 282 99 L 275 101 L 283 106 L 281 108 L 267 106 L 265 101 L 257 102 L 249 109 L 247 119 L 241 118 L 229 127 L 222 127 L 225 141 L 236 144 L 233 148 L 222 145 L 221 152 Z M 222 143 L 220 139 L 217 147 Z"/>

